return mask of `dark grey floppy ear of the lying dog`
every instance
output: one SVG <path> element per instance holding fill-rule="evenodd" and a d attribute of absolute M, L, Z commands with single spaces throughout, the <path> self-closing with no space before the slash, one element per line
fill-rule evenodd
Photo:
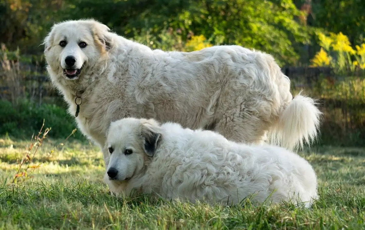
<path fill-rule="evenodd" d="M 153 157 L 157 149 L 157 143 L 161 139 L 159 124 L 152 119 L 142 121 L 141 135 L 144 139 L 143 150 L 145 150 L 147 156 Z"/>

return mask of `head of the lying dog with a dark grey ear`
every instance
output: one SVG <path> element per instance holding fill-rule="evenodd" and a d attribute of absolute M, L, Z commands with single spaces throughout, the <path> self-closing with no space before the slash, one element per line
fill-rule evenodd
<path fill-rule="evenodd" d="M 140 174 L 154 157 L 161 141 L 161 127 L 153 119 L 124 118 L 111 122 L 107 134 L 109 180 L 126 181 Z M 147 165 L 146 165 L 147 166 Z"/>

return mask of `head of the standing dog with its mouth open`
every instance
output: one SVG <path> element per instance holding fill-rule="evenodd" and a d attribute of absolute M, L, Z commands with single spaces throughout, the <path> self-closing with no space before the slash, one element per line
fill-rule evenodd
<path fill-rule="evenodd" d="M 109 31 L 106 25 L 95 20 L 71 20 L 54 24 L 43 41 L 49 68 L 57 77 L 66 80 L 82 78 L 111 49 Z"/>

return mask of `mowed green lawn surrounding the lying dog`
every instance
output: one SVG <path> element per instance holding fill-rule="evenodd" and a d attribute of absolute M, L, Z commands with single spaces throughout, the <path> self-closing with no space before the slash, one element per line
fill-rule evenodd
<path fill-rule="evenodd" d="M 314 166 L 320 199 L 309 209 L 289 204 L 220 207 L 120 199 L 102 183 L 104 162 L 91 144 L 45 139 L 40 168 L 11 184 L 28 143 L 0 138 L 0 229 L 364 229 L 365 148 L 315 147 L 300 152 Z"/>

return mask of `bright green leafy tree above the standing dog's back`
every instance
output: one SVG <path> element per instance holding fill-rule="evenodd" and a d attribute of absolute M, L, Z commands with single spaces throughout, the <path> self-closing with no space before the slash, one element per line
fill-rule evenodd
<path fill-rule="evenodd" d="M 295 64 L 303 43 L 309 42 L 308 27 L 297 22 L 301 12 L 292 0 L 78 0 L 72 4 L 72 18 L 96 18 L 128 38 L 140 37 L 146 30 L 156 42 L 169 29 L 185 41 L 190 34 L 202 34 L 213 44 L 266 51 L 282 65 Z"/>

